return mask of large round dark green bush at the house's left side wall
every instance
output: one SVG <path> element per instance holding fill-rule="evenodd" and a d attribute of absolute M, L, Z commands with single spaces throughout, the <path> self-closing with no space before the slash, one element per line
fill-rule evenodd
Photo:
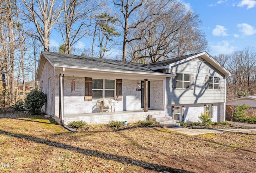
<path fill-rule="evenodd" d="M 26 96 L 25 108 L 31 114 L 39 114 L 46 103 L 46 94 L 41 90 L 32 90 Z"/>

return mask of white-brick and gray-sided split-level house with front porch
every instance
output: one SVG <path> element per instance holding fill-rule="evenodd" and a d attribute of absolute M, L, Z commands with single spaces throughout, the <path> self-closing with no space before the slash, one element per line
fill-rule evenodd
<path fill-rule="evenodd" d="M 202 112 L 225 120 L 228 76 L 206 52 L 140 64 L 43 51 L 36 80 L 47 94 L 43 110 L 60 124 L 136 122 L 161 113 L 187 122 Z M 111 98 L 116 113 L 99 113 L 99 98 Z"/>

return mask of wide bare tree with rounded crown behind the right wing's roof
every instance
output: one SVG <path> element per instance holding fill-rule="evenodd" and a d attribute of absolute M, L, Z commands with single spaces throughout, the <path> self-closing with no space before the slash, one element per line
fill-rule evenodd
<path fill-rule="evenodd" d="M 144 59 L 154 63 L 171 57 L 203 51 L 207 47 L 204 33 L 198 28 L 198 15 L 174 0 L 151 0 L 137 18 L 150 16 L 133 29 L 140 37 L 130 45 L 132 61 Z M 144 17 L 145 18 L 145 17 Z"/>

